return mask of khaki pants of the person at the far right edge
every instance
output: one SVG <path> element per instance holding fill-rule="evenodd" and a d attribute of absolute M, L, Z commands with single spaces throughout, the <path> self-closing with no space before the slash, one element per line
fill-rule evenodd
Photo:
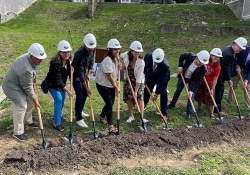
<path fill-rule="evenodd" d="M 241 76 L 242 76 L 242 78 L 243 78 L 243 80 L 244 80 L 244 73 L 243 73 L 243 72 L 241 72 Z M 236 75 L 236 76 L 234 76 L 234 77 L 231 77 L 231 80 L 232 80 L 232 82 L 233 82 L 233 89 L 234 89 L 234 90 L 237 88 L 237 85 L 238 85 L 239 81 L 240 81 L 240 84 L 241 84 L 241 88 L 243 88 L 239 75 Z M 246 88 L 246 89 L 247 89 L 248 94 L 250 94 L 250 82 L 248 82 L 247 88 Z M 247 96 L 246 96 L 245 91 L 244 91 L 243 89 L 242 89 L 242 93 L 244 93 L 246 106 L 247 106 L 248 110 L 250 110 L 250 103 L 247 101 Z M 231 105 L 231 103 L 232 103 L 232 95 L 233 95 L 233 94 L 232 94 L 232 90 L 231 90 L 231 88 L 229 87 L 228 96 L 227 96 L 227 104 L 230 104 L 230 105 Z"/>

